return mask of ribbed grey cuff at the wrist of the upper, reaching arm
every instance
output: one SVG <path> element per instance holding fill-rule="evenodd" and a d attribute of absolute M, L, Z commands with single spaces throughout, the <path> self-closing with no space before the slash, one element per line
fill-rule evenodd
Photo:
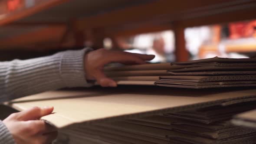
<path fill-rule="evenodd" d="M 61 58 L 60 75 L 66 87 L 92 86 L 85 79 L 84 56 L 90 48 L 69 50 L 63 52 Z"/>

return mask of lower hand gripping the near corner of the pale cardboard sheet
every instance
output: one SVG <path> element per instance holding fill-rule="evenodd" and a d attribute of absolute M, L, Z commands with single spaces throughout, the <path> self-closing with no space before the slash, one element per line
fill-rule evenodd
<path fill-rule="evenodd" d="M 3 120 L 16 144 L 51 144 L 58 132 L 44 121 L 39 120 L 53 112 L 53 107 L 31 108 L 11 114 Z"/>

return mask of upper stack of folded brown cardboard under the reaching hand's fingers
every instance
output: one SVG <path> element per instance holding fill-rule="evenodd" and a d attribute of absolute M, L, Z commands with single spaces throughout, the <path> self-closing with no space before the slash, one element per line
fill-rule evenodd
<path fill-rule="evenodd" d="M 179 88 L 256 86 L 256 59 L 211 58 L 188 62 L 110 67 L 106 75 L 121 85 Z"/>

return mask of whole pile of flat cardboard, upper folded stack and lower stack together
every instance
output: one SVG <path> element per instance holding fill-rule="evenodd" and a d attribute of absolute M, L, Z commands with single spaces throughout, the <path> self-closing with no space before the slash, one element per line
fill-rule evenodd
<path fill-rule="evenodd" d="M 123 86 L 45 92 L 7 105 L 54 106 L 43 120 L 59 128 L 56 144 L 255 144 L 256 130 L 230 122 L 256 108 L 255 67 L 256 59 L 217 57 L 108 67 L 105 74 Z"/>

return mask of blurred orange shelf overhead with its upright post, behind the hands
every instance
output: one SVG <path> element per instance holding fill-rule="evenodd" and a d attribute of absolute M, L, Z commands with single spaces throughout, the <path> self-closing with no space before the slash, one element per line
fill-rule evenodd
<path fill-rule="evenodd" d="M 173 30 L 176 61 L 189 59 L 186 27 L 256 18 L 255 0 L 2 0 L 0 49 L 103 47 L 110 38 Z"/>

